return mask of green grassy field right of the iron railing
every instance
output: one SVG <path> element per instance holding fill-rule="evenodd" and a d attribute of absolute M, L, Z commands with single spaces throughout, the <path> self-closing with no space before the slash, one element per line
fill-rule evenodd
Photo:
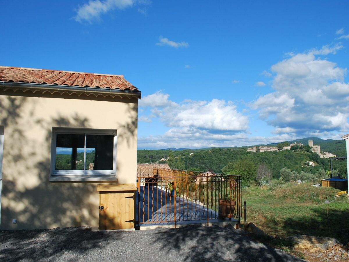
<path fill-rule="evenodd" d="M 284 183 L 277 187 L 244 188 L 247 223 L 252 222 L 270 235 L 295 234 L 334 237 L 349 241 L 349 201 L 335 198 L 340 190 Z M 325 201 L 331 203 L 325 203 Z M 346 232 L 341 232 L 348 229 Z"/>

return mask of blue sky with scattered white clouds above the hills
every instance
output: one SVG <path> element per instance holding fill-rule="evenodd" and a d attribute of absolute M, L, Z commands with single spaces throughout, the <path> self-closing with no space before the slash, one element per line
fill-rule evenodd
<path fill-rule="evenodd" d="M 0 65 L 124 74 L 139 149 L 349 133 L 348 1 L 1 2 Z"/>

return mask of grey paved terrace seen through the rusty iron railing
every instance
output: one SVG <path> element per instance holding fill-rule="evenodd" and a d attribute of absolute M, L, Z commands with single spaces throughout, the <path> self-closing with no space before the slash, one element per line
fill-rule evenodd
<path fill-rule="evenodd" d="M 136 200 L 138 203 L 138 199 Z M 147 225 L 169 224 L 174 222 L 174 197 L 160 187 L 141 186 L 140 222 Z M 176 196 L 176 222 L 207 220 L 218 218 L 218 212 L 208 209 L 202 203 Z M 136 210 L 138 220 L 138 210 Z"/>

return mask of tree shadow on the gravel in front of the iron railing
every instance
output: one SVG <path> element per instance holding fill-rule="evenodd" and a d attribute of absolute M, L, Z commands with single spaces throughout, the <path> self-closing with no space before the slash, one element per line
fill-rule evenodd
<path fill-rule="evenodd" d="M 186 226 L 157 232 L 163 252 L 177 251 L 183 261 L 303 261 L 217 226 Z"/>

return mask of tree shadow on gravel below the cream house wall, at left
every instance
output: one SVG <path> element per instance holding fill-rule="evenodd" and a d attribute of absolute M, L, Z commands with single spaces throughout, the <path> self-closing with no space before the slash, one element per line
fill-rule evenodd
<path fill-rule="evenodd" d="M 105 248 L 107 242 L 120 241 L 120 237 L 113 232 L 91 232 L 81 227 L 2 231 L 0 244 L 6 245 L 0 248 L 0 261 L 50 261 L 69 252 L 76 254 L 76 260 L 81 261 L 83 255 L 98 252 L 96 250 Z"/>

